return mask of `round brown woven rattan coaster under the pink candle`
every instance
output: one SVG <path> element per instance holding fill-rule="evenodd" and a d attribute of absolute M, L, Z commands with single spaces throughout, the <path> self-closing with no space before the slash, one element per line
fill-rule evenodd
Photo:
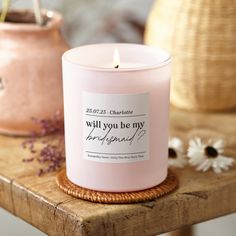
<path fill-rule="evenodd" d="M 178 178 L 171 170 L 168 170 L 168 176 L 161 184 L 153 188 L 136 192 L 110 193 L 82 188 L 69 181 L 65 169 L 57 175 L 56 182 L 60 189 L 73 197 L 99 203 L 134 203 L 150 201 L 170 193 L 178 187 Z"/>

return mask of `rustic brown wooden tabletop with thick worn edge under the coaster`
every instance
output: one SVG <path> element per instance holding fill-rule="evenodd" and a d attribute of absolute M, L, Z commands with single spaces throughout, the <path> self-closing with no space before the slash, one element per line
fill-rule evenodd
<path fill-rule="evenodd" d="M 224 138 L 226 154 L 236 157 L 236 113 L 200 114 L 172 109 L 171 135 Z M 55 175 L 35 176 L 37 163 L 22 138 L 0 136 L 0 205 L 49 235 L 145 236 L 236 212 L 236 167 L 222 174 L 176 170 L 180 187 L 151 202 L 94 204 L 61 192 Z"/>

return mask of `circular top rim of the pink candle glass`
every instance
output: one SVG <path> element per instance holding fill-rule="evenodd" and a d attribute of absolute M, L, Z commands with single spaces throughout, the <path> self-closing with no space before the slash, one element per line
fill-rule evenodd
<path fill-rule="evenodd" d="M 85 48 L 85 47 L 94 47 L 94 46 L 99 46 L 99 45 L 114 45 L 114 48 L 116 46 L 122 46 L 122 45 L 132 45 L 132 46 L 137 46 L 137 47 L 146 47 L 147 49 L 152 49 L 154 51 L 162 51 L 164 53 L 167 54 L 167 57 L 160 61 L 160 62 L 156 62 L 156 63 L 150 63 L 147 65 L 142 65 L 142 66 L 138 66 L 138 67 L 127 67 L 127 68 L 108 68 L 108 67 L 98 67 L 98 66 L 93 66 L 93 65 L 86 65 L 86 64 L 81 64 L 78 62 L 74 62 L 72 60 L 70 60 L 68 58 L 68 54 L 71 53 L 74 50 L 79 50 L 81 48 Z M 153 52 L 154 53 L 154 52 Z M 128 72 L 128 71 L 144 71 L 144 70 L 153 70 L 153 69 L 158 69 L 161 67 L 164 67 L 168 64 L 171 63 L 172 57 L 170 55 L 170 53 L 166 50 L 164 50 L 163 48 L 160 47 L 152 47 L 149 45 L 145 45 L 145 44 L 133 44 L 133 43 L 101 43 L 101 44 L 89 44 L 89 45 L 83 45 L 83 46 L 79 46 L 79 47 L 75 47 L 72 49 L 69 49 L 68 51 L 66 51 L 63 55 L 62 55 L 62 60 L 67 62 L 67 63 L 71 63 L 75 66 L 78 66 L 80 69 L 83 70 L 89 70 L 89 71 L 97 71 L 97 72 L 112 72 L 112 73 L 121 73 L 121 72 Z"/>

